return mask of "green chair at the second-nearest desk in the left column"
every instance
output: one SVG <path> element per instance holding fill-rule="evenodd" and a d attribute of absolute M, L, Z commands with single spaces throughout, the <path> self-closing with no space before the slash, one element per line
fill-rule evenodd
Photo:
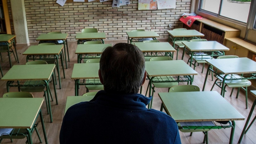
<path fill-rule="evenodd" d="M 47 62 L 42 61 L 42 60 L 36 60 L 36 61 L 29 61 L 29 62 L 26 63 L 26 65 L 39 65 L 39 64 L 47 64 Z M 44 92 L 47 113 L 49 114 L 48 103 L 47 103 L 47 101 L 48 101 L 47 94 L 44 90 L 46 88 L 46 85 L 45 85 L 44 81 L 29 80 L 29 81 L 26 81 L 24 83 L 24 85 L 28 85 L 28 86 L 21 86 L 20 87 L 21 92 Z M 50 93 L 50 96 L 51 96 L 51 99 L 52 99 L 52 92 L 51 92 L 50 89 L 49 89 L 49 93 Z M 58 104 L 58 99 L 57 99 L 55 89 L 54 89 L 54 93 L 55 93 L 56 104 Z M 52 101 L 53 101 L 53 99 L 52 99 Z"/>

